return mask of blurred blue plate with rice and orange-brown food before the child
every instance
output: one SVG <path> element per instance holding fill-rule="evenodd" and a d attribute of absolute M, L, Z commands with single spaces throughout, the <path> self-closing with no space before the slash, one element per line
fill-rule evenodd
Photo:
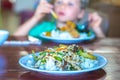
<path fill-rule="evenodd" d="M 67 22 L 66 26 L 57 27 L 55 30 L 43 32 L 40 37 L 56 43 L 80 43 L 95 39 L 95 33 L 90 29 L 83 29 L 85 26 L 76 27 L 73 22 Z"/>

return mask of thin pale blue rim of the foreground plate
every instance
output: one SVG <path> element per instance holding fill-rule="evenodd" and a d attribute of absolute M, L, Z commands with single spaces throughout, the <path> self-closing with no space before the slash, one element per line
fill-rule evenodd
<path fill-rule="evenodd" d="M 37 53 L 37 54 L 38 54 L 38 53 Z M 101 68 L 103 68 L 103 67 L 108 63 L 107 59 L 106 59 L 104 56 L 95 53 L 95 54 L 94 54 L 95 56 L 100 57 L 100 58 L 102 58 L 102 59 L 104 60 L 104 62 L 102 63 L 102 65 L 97 66 L 97 67 L 95 67 L 95 68 L 85 69 L 85 70 L 78 70 L 78 71 L 47 71 L 47 70 L 40 70 L 40 69 L 31 68 L 31 67 L 25 66 L 24 64 L 21 63 L 21 61 L 22 61 L 24 58 L 26 58 L 26 57 L 28 57 L 28 56 L 30 56 L 30 55 L 32 55 L 32 54 L 23 56 L 23 57 L 21 57 L 21 58 L 19 59 L 19 64 L 20 64 L 20 66 L 22 66 L 23 68 L 26 68 L 26 69 L 28 69 L 28 70 L 30 70 L 30 71 L 46 72 L 46 73 L 52 73 L 52 74 L 61 74 L 61 73 L 62 73 L 62 74 L 73 74 L 73 73 L 89 72 L 89 71 L 94 71 L 94 70 L 101 69 Z"/>

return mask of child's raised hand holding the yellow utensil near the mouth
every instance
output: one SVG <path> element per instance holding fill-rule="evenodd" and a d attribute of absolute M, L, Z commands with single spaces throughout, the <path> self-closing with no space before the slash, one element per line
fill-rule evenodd
<path fill-rule="evenodd" d="M 53 6 L 49 4 L 46 0 L 40 0 L 39 5 L 35 11 L 35 14 L 33 17 L 37 18 L 38 20 L 43 18 L 45 14 L 50 13 Z"/>

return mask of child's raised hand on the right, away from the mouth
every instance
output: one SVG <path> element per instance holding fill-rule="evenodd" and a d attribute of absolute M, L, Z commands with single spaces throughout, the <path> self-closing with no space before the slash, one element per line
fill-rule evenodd
<path fill-rule="evenodd" d="M 102 18 L 98 15 L 98 13 L 94 12 L 89 14 L 89 22 L 92 28 L 97 28 L 100 27 Z"/>

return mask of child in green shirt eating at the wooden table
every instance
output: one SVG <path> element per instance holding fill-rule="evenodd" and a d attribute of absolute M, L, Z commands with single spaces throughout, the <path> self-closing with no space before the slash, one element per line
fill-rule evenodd
<path fill-rule="evenodd" d="M 85 0 L 55 0 L 53 6 L 46 0 L 41 0 L 33 17 L 21 25 L 14 35 L 39 37 L 40 33 L 55 29 L 56 26 L 65 26 L 67 21 L 77 23 L 85 14 L 84 1 Z M 46 14 L 50 14 L 53 9 L 58 16 L 56 23 L 43 22 L 43 17 Z M 39 21 L 41 21 L 41 23 L 39 23 Z M 89 14 L 88 21 L 90 22 L 89 26 L 91 26 L 98 38 L 105 37 L 100 28 L 102 19 L 97 13 Z"/>

